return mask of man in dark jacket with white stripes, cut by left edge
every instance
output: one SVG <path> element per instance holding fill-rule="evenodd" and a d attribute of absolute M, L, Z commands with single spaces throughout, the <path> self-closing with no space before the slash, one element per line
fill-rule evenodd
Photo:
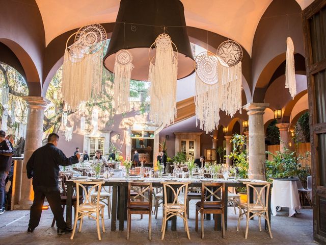
<path fill-rule="evenodd" d="M 13 147 L 6 138 L 6 132 L 0 130 L 0 214 L 5 212 L 6 178 L 11 167 Z"/>

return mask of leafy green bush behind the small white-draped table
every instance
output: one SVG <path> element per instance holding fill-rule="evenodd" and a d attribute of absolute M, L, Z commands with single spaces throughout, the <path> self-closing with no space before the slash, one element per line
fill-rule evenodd
<path fill-rule="evenodd" d="M 307 180 L 307 177 L 311 175 L 311 169 L 308 165 L 302 166 L 300 161 L 306 160 L 310 152 L 306 152 L 305 155 L 297 155 L 296 152 L 292 152 L 285 148 L 284 152 L 277 151 L 276 154 L 267 152 L 267 154 L 273 156 L 273 160 L 266 160 L 266 177 L 271 178 L 289 178 L 297 176 L 303 183 Z"/>

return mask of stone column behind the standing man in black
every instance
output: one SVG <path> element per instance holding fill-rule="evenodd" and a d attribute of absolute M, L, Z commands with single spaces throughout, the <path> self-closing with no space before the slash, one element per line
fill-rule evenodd
<path fill-rule="evenodd" d="M 15 209 L 26 210 L 30 209 L 34 198 L 32 180 L 29 180 L 26 174 L 26 164 L 33 152 L 42 146 L 44 109 L 49 100 L 39 96 L 25 96 L 23 99 L 28 103 L 29 111 L 22 168 L 21 198 Z"/>

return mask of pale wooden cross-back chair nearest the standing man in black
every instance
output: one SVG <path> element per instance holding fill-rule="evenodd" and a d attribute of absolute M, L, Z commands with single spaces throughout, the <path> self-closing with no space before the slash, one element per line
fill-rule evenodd
<path fill-rule="evenodd" d="M 83 218 L 84 216 L 88 216 L 96 220 L 97 236 L 98 239 L 101 240 L 100 226 L 99 226 L 100 218 L 102 219 L 103 233 L 105 233 L 105 228 L 104 228 L 104 205 L 100 204 L 100 192 L 101 192 L 102 184 L 104 184 L 105 182 L 104 181 L 101 182 L 74 181 L 74 183 L 76 184 L 77 196 L 79 195 L 79 188 L 84 191 L 85 202 L 79 204 L 79 200 L 77 199 L 75 223 L 73 225 L 73 230 L 70 239 L 72 240 L 74 237 L 78 219 L 80 219 L 79 229 L 78 229 L 78 232 L 80 232 L 82 230 Z M 85 185 L 89 185 L 89 184 L 92 184 L 93 186 L 91 188 L 87 188 L 87 186 Z M 91 193 L 94 192 L 95 190 L 98 191 L 97 197 L 96 199 L 92 199 Z"/>

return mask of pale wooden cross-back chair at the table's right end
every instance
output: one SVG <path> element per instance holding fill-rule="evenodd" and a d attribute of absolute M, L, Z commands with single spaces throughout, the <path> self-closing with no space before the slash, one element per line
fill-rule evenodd
<path fill-rule="evenodd" d="M 246 234 L 244 235 L 244 238 L 247 239 L 248 231 L 249 231 L 249 220 L 251 218 L 253 218 L 254 216 L 258 216 L 259 230 L 261 231 L 260 218 L 263 217 L 264 219 L 266 219 L 266 222 L 267 222 L 269 236 L 270 236 L 270 238 L 273 238 L 273 235 L 271 234 L 271 230 L 270 230 L 269 216 L 268 216 L 268 197 L 269 197 L 268 193 L 269 193 L 270 183 L 268 183 L 268 182 L 258 182 L 258 183 L 245 182 L 245 184 L 247 187 L 248 200 L 250 200 L 249 188 L 253 188 L 256 201 L 254 203 L 250 203 L 249 201 L 247 203 L 240 203 L 240 205 L 238 206 L 239 218 L 238 218 L 238 225 L 237 225 L 236 230 L 239 231 L 241 216 L 246 215 L 247 224 L 246 224 Z M 266 193 L 266 198 L 265 198 L 265 193 Z"/>

